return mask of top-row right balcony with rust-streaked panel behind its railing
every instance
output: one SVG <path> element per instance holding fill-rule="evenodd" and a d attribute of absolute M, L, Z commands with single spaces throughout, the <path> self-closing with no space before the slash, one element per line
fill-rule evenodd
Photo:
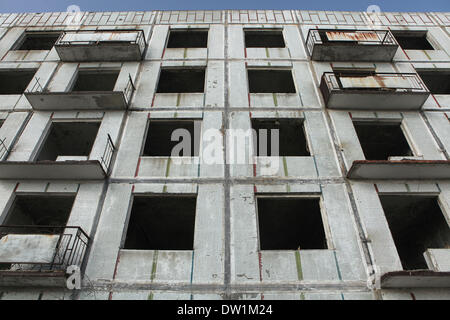
<path fill-rule="evenodd" d="M 311 29 L 306 45 L 315 61 L 390 62 L 399 47 L 389 30 Z"/>

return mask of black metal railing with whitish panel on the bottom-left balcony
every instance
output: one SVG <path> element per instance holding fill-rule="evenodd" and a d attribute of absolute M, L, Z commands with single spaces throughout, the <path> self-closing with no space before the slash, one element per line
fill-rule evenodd
<path fill-rule="evenodd" d="M 27 250 L 26 244 L 33 243 Z M 0 226 L 0 270 L 65 271 L 81 268 L 89 236 L 73 226 Z"/>

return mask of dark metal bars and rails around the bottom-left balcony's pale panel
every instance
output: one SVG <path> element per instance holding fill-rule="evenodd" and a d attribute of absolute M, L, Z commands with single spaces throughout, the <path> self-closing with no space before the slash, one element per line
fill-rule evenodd
<path fill-rule="evenodd" d="M 89 246 L 89 236 L 81 227 L 61 226 L 0 226 L 0 239 L 8 235 L 47 235 L 57 236 L 58 240 L 51 261 L 1 261 L 2 270 L 10 271 L 65 271 L 68 266 L 81 267 L 86 250 Z M 48 248 L 49 250 L 52 248 Z M 31 249 L 30 249 L 31 250 Z M 5 268 L 5 265 L 6 268 Z"/>

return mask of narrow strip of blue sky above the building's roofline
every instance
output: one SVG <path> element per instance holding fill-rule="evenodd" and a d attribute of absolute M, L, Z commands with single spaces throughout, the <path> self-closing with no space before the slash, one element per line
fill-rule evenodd
<path fill-rule="evenodd" d="M 145 11 L 198 9 L 303 9 L 365 11 L 378 5 L 382 11 L 450 11 L 450 0 L 0 0 L 0 12 Z"/>

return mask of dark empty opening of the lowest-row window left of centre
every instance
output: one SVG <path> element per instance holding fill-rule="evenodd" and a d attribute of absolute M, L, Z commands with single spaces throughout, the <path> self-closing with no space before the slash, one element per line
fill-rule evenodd
<path fill-rule="evenodd" d="M 196 197 L 135 196 L 125 249 L 193 250 Z"/>

